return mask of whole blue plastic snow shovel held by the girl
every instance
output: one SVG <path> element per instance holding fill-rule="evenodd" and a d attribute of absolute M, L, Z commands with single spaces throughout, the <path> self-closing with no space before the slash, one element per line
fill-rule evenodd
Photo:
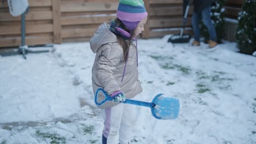
<path fill-rule="evenodd" d="M 102 91 L 105 99 L 100 103 L 97 102 L 98 92 Z M 104 91 L 103 88 L 98 88 L 95 93 L 95 104 L 102 105 L 106 101 L 113 101 L 113 98 Z M 117 102 L 118 103 L 118 102 Z M 165 94 L 158 94 L 153 99 L 152 103 L 148 103 L 145 101 L 131 100 L 126 99 L 121 103 L 139 105 L 150 107 L 152 115 L 157 119 L 175 119 L 179 114 L 179 100 L 172 97 L 166 97 Z"/>

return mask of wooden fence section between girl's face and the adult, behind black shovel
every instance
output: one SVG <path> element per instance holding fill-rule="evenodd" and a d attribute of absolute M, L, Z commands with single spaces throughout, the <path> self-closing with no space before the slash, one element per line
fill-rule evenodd
<path fill-rule="evenodd" d="M 144 3 L 149 15 L 142 38 L 179 33 L 178 28 L 182 26 L 183 21 L 183 0 L 152 0 L 144 1 Z M 192 11 L 193 9 L 190 9 L 185 27 L 191 27 Z M 191 29 L 184 33 L 191 33 Z"/>

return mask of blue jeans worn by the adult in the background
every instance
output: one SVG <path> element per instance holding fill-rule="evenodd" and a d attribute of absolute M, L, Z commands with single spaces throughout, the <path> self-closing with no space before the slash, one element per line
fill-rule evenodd
<path fill-rule="evenodd" d="M 192 25 L 193 25 L 193 32 L 195 35 L 195 40 L 199 41 L 200 40 L 200 22 L 201 20 L 205 24 L 205 26 L 208 29 L 208 33 L 210 35 L 210 40 L 216 41 L 217 40 L 217 35 L 215 28 L 212 23 L 211 19 L 211 6 L 206 7 L 202 11 L 195 11 L 193 13 L 192 17 Z"/>

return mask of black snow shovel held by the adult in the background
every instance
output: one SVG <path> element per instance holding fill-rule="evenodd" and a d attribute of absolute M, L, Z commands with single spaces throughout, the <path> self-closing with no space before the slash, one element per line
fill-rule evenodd
<path fill-rule="evenodd" d="M 172 35 L 168 39 L 168 42 L 171 42 L 171 43 L 188 43 L 189 42 L 190 35 L 183 35 L 184 27 L 185 27 L 185 24 L 186 24 L 187 18 L 188 18 L 189 8 L 190 8 L 190 3 L 188 3 L 187 8 L 185 10 L 185 14 L 184 14 L 184 17 L 183 17 L 183 24 L 182 24 L 182 28 L 181 28 L 181 33 Z"/>

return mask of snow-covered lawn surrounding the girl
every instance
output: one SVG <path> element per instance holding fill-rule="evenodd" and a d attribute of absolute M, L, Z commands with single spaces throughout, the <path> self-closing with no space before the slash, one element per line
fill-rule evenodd
<path fill-rule="evenodd" d="M 132 144 L 256 143 L 256 57 L 225 42 L 206 44 L 138 40 L 143 92 L 181 100 L 178 119 L 155 119 L 137 109 Z M 55 51 L 0 57 L 0 143 L 101 143 L 103 118 L 94 104 L 88 42 Z"/>

